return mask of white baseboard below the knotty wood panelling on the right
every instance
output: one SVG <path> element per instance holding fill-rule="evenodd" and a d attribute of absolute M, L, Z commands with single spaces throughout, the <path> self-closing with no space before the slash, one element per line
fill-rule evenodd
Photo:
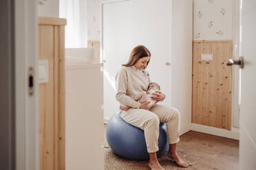
<path fill-rule="evenodd" d="M 236 127 L 233 127 L 232 130 L 229 131 L 229 130 L 222 130 L 217 127 L 210 127 L 207 125 L 198 125 L 198 124 L 192 123 L 191 130 L 196 132 L 203 132 L 206 134 L 213 134 L 216 136 L 222 136 L 226 138 L 233 138 L 233 139 L 239 140 L 239 129 Z"/>

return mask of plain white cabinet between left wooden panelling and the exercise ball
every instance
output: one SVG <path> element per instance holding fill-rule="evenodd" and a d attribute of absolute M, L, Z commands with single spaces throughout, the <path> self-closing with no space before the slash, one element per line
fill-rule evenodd
<path fill-rule="evenodd" d="M 66 62 L 66 169 L 104 169 L 100 63 Z"/>

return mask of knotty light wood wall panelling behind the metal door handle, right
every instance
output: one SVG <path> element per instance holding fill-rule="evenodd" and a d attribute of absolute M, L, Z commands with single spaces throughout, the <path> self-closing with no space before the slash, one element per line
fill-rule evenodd
<path fill-rule="evenodd" d="M 231 130 L 232 40 L 193 42 L 192 123 Z M 213 60 L 201 60 L 213 54 Z"/>

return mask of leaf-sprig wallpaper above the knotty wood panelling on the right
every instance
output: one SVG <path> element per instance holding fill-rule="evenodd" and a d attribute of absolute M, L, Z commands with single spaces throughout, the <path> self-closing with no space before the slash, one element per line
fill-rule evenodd
<path fill-rule="evenodd" d="M 233 39 L 234 0 L 193 0 L 193 39 Z"/>

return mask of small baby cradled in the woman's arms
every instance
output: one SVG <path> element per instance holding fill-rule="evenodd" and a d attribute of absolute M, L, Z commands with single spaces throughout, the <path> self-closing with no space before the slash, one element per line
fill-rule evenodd
<path fill-rule="evenodd" d="M 156 93 L 156 91 L 158 91 L 158 90 L 160 90 L 160 86 L 155 82 L 151 82 L 147 88 L 147 92 L 143 91 L 143 92 L 138 93 L 134 97 L 134 100 L 136 100 L 140 103 L 145 102 L 145 101 L 150 101 L 149 108 L 151 108 L 157 102 L 156 100 L 152 100 L 151 97 L 153 97 L 153 93 Z M 119 108 L 120 108 L 120 110 L 127 111 L 131 107 L 120 105 Z"/>

